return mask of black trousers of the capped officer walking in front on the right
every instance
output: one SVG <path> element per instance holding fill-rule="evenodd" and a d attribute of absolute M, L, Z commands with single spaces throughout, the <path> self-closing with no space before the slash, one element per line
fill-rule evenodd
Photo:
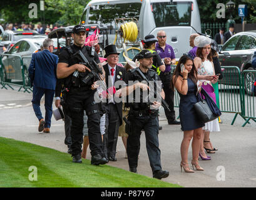
<path fill-rule="evenodd" d="M 152 172 L 161 169 L 161 151 L 158 143 L 158 117 L 157 114 L 132 116 L 129 114 L 131 121 L 131 134 L 127 139 L 127 156 L 130 168 L 137 168 L 138 155 L 140 153 L 140 135 L 144 129 L 146 137 L 146 151 L 150 159 Z"/>

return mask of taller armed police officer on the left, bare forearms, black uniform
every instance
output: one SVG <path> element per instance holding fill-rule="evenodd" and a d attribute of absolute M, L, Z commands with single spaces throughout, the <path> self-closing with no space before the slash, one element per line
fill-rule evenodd
<path fill-rule="evenodd" d="M 93 83 L 97 80 L 94 78 L 87 79 L 88 73 L 91 72 L 89 63 L 93 60 L 98 64 L 98 68 L 102 71 L 101 78 L 105 78 L 105 72 L 100 65 L 98 54 L 92 47 L 84 46 L 86 31 L 84 26 L 76 25 L 73 28 L 71 35 L 74 39 L 74 44 L 71 47 L 64 49 L 59 56 L 57 66 L 57 77 L 64 79 L 65 85 L 65 104 L 68 108 L 71 118 L 71 150 L 74 163 L 81 163 L 81 148 L 83 143 L 83 115 L 84 110 L 88 116 L 88 136 L 90 139 L 91 149 L 91 164 L 106 164 L 106 158 L 103 154 L 103 144 L 100 132 L 100 104 L 95 102 L 94 94 L 96 90 L 91 89 Z M 89 63 L 84 63 L 84 59 L 79 61 L 79 58 L 88 60 Z M 86 79 L 86 81 L 84 81 Z M 89 81 L 88 81 L 89 80 Z"/>

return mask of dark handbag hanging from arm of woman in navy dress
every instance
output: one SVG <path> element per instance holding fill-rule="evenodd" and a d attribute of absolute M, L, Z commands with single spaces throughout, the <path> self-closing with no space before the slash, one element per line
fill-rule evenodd
<path fill-rule="evenodd" d="M 207 102 L 202 99 L 200 95 L 198 96 L 200 98 L 200 101 L 194 104 L 195 112 L 197 113 L 198 118 L 203 123 L 208 123 L 209 121 L 217 119 L 218 116 L 215 116 L 215 114 L 212 113 L 212 110 L 208 106 Z"/>

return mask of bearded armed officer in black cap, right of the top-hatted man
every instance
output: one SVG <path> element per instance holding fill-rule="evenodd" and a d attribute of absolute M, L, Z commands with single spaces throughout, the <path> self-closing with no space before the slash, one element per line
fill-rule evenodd
<path fill-rule="evenodd" d="M 138 73 L 138 71 L 141 71 L 148 81 L 160 81 L 160 78 L 155 71 L 150 69 L 151 65 L 153 64 L 153 56 L 154 54 L 152 54 L 150 51 L 146 49 L 142 50 L 137 55 L 138 61 L 140 61 L 140 67 L 135 68 L 126 74 L 126 84 L 129 84 L 128 81 L 139 81 L 138 83 L 125 88 L 126 94 L 128 94 L 128 100 L 126 102 L 128 102 L 128 107 L 130 107 L 127 121 L 128 123 L 126 124 L 126 130 L 130 132 L 127 140 L 127 156 L 130 171 L 136 173 L 136 168 L 138 166 L 138 154 L 140 152 L 140 135 L 141 130 L 144 129 L 146 136 L 146 150 L 148 152 L 148 158 L 150 159 L 153 178 L 161 179 L 166 178 L 169 175 L 168 171 L 163 171 L 161 169 L 160 161 L 161 151 L 158 143 L 158 108 L 161 104 L 156 101 L 153 102 L 153 105 L 150 105 L 149 102 L 143 103 L 145 101 L 143 101 L 142 91 L 148 90 L 149 87 L 146 84 L 140 83 L 143 81 L 143 78 L 141 78 L 140 74 Z M 136 89 L 140 89 L 139 103 L 135 101 L 135 99 L 138 98 L 135 96 L 135 94 L 138 94 Z M 118 94 L 119 93 L 116 95 Z M 164 96 L 162 89 L 161 96 Z M 130 98 L 133 98 L 133 101 L 131 101 Z M 130 126 L 127 126 L 129 123 Z"/>

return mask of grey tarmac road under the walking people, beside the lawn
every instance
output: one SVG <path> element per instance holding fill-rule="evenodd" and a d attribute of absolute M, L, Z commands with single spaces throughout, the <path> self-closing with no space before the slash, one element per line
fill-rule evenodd
<path fill-rule="evenodd" d="M 51 133 L 39 134 L 37 131 L 38 119 L 34 115 L 31 99 L 32 94 L 12 91 L 11 89 L 0 89 L 0 136 L 66 152 L 64 122 L 55 121 L 52 118 Z M 11 105 L 8 106 L 8 104 Z M 41 108 L 44 107 L 43 105 L 42 102 Z M 54 105 L 53 108 L 55 108 Z M 159 134 L 161 164 L 163 169 L 170 172 L 170 176 L 162 179 L 163 181 L 185 187 L 256 187 L 256 126 L 253 121 L 242 128 L 243 119 L 238 116 L 235 124 L 231 126 L 230 123 L 234 114 L 223 113 L 223 124 L 220 124 L 221 132 L 210 134 L 213 146 L 218 151 L 215 154 L 208 154 L 212 156 L 212 160 L 200 160 L 200 166 L 205 171 L 195 171 L 195 173 L 182 171 L 181 173 L 180 143 L 183 132 L 180 131 L 180 125 L 168 125 L 162 111 L 161 109 L 160 124 L 163 126 L 163 130 Z M 176 111 L 178 114 L 178 109 Z M 44 113 L 44 108 L 42 113 Z M 87 156 L 90 159 L 90 149 L 88 149 Z M 118 161 L 110 162 L 109 165 L 125 170 L 129 169 L 121 138 L 118 139 L 116 158 Z M 192 159 L 191 146 L 188 158 L 189 161 Z M 141 134 L 138 173 L 152 176 L 146 153 L 144 133 Z"/>

